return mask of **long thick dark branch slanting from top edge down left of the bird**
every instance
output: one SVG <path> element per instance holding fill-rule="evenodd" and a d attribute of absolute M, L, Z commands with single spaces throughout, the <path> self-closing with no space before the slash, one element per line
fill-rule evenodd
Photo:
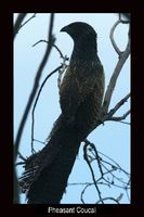
<path fill-rule="evenodd" d="M 19 127 L 18 127 L 18 131 L 17 131 L 17 135 L 16 135 L 16 140 L 15 140 L 15 145 L 14 145 L 14 159 L 16 159 L 16 157 L 17 157 L 17 151 L 18 151 L 18 146 L 19 146 L 23 129 L 24 129 L 24 126 L 25 126 L 29 110 L 31 107 L 32 101 L 34 101 L 35 95 L 37 93 L 37 90 L 38 90 L 38 87 L 39 87 L 39 80 L 40 80 L 43 67 L 44 67 L 44 65 L 45 65 L 45 63 L 48 61 L 48 58 L 50 55 L 50 52 L 51 52 L 51 49 L 52 49 L 52 44 L 55 41 L 55 38 L 52 36 L 53 21 L 54 21 L 54 14 L 52 13 L 51 17 L 50 17 L 50 27 L 49 27 L 49 42 L 50 43 L 48 44 L 48 47 L 45 49 L 44 56 L 43 56 L 43 59 L 42 59 L 42 61 L 41 61 L 41 63 L 39 65 L 39 68 L 38 68 L 38 72 L 37 72 L 37 75 L 36 75 L 36 78 L 35 78 L 35 84 L 34 84 L 34 87 L 32 87 L 31 93 L 29 95 L 26 108 L 24 111 L 24 115 L 22 117 L 22 120 L 21 120 L 21 124 L 19 124 Z"/>

